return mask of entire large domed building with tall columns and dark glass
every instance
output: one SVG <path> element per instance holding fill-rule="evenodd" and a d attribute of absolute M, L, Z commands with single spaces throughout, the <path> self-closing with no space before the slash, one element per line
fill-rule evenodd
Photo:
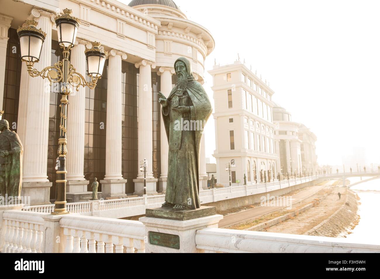
<path fill-rule="evenodd" d="M 54 17 L 64 8 L 81 20 L 71 64 L 86 75 L 84 50 L 99 41 L 108 51 L 94 90 L 70 95 L 68 107 L 67 200 L 90 197 L 100 180 L 102 197 L 143 193 L 140 162 L 147 160 L 147 193 L 165 191 L 168 142 L 157 92 L 176 83 L 174 61 L 187 57 L 203 84 L 204 60 L 214 49 L 210 32 L 187 19 L 171 0 L 3 0 L 0 11 L 0 109 L 24 145 L 22 195 L 32 204 L 55 197 L 60 95 L 21 63 L 16 29 L 27 19 L 46 32 L 38 70 L 62 59 Z M 200 180 L 207 184 L 204 139 Z"/>

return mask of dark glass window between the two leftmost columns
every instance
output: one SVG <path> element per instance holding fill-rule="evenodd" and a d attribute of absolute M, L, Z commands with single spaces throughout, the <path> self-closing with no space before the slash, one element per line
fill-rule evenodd
<path fill-rule="evenodd" d="M 17 114 L 19 111 L 19 92 L 22 61 L 19 58 L 20 46 L 16 29 L 8 30 L 8 45 L 5 58 L 5 79 L 3 96 L 3 119 L 8 120 L 9 128 L 17 132 Z"/>

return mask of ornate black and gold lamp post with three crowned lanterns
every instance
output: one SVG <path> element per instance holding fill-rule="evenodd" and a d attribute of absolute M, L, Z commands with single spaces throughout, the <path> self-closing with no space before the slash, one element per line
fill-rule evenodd
<path fill-rule="evenodd" d="M 38 71 L 33 69 L 34 63 L 40 60 L 42 45 L 46 39 L 46 33 L 43 30 L 37 29 L 38 22 L 35 20 L 27 20 L 28 26 L 19 27 L 17 35 L 20 40 L 21 60 L 26 62 L 27 71 L 31 77 L 41 76 L 43 79 L 48 79 L 50 85 L 52 82 L 60 82 L 60 125 L 58 139 L 58 159 L 57 159 L 57 179 L 56 179 L 56 194 L 55 208 L 51 214 L 60 215 L 68 214 L 66 210 L 66 154 L 67 154 L 67 107 L 68 96 L 71 93 L 71 86 L 79 91 L 79 87 L 89 87 L 94 89 L 98 79 L 103 73 L 103 66 L 108 53 L 100 49 L 101 44 L 94 42 L 92 49 L 85 50 L 87 70 L 90 81 L 79 73 L 73 65 L 70 64 L 70 50 L 74 47 L 76 34 L 78 32 L 80 20 L 71 16 L 70 9 L 63 9 L 63 15 L 58 15 L 54 18 L 57 25 L 58 41 L 62 48 L 63 59 L 54 64 L 47 66 Z M 51 38 L 47 38 L 51 39 Z"/>

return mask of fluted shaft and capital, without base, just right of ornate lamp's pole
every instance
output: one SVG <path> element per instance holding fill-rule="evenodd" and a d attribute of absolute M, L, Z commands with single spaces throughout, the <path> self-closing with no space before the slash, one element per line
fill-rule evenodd
<path fill-rule="evenodd" d="M 70 63 L 82 76 L 86 76 L 86 55 L 84 50 L 91 48 L 87 41 L 77 39 L 71 50 Z M 72 90 L 67 110 L 67 180 L 85 180 L 84 164 L 84 115 L 86 109 L 86 88 Z"/>

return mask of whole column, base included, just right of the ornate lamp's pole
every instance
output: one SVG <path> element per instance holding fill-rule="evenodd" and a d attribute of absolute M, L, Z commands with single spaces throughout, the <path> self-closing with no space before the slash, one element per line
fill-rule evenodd
<path fill-rule="evenodd" d="M 86 55 L 84 50 L 91 44 L 82 39 L 76 39 L 71 50 L 70 63 L 82 76 L 86 76 Z M 92 198 L 92 192 L 87 191 L 88 180 L 84 179 L 84 114 L 86 109 L 86 88 L 79 91 L 72 88 L 69 96 L 70 105 L 67 109 L 67 183 L 66 198 L 68 202 L 82 202 Z"/>

